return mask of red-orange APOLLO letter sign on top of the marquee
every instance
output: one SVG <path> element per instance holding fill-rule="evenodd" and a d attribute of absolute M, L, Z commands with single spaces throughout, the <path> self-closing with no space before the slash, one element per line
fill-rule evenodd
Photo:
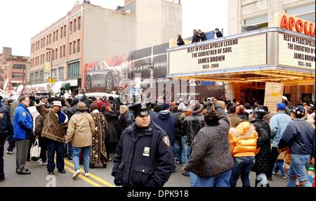
<path fill-rule="evenodd" d="M 275 26 L 315 37 L 315 22 L 297 18 L 286 13 L 278 13 L 275 15 Z"/>

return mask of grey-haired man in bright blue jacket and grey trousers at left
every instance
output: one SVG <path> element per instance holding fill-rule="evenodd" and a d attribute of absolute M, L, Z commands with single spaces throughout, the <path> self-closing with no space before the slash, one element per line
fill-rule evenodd
<path fill-rule="evenodd" d="M 13 118 L 13 138 L 16 141 L 17 150 L 16 173 L 18 174 L 31 174 L 31 172 L 25 168 L 29 143 L 34 135 L 33 119 L 27 107 L 29 107 L 29 98 L 27 98 L 27 96 L 21 96 Z"/>

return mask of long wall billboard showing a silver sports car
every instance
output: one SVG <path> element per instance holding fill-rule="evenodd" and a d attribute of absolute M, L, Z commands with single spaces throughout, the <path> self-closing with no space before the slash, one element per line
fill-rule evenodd
<path fill-rule="evenodd" d="M 114 90 L 123 87 L 126 80 L 135 79 L 137 73 L 141 74 L 141 79 L 150 79 L 150 64 L 154 67 L 154 79 L 166 78 L 168 47 L 169 44 L 161 44 L 86 63 L 85 87 L 88 91 Z"/>

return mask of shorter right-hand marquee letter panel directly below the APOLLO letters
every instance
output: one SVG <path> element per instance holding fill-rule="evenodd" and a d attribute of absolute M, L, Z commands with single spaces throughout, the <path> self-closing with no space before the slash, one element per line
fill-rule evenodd
<path fill-rule="evenodd" d="M 279 34 L 279 65 L 315 70 L 315 40 Z"/>

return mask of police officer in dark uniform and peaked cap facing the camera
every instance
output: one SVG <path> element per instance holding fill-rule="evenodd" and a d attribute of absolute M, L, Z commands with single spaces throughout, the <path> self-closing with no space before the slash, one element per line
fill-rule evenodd
<path fill-rule="evenodd" d="M 145 102 L 131 106 L 135 123 L 127 127 L 114 157 L 112 176 L 117 186 L 162 187 L 174 167 L 168 136 L 150 119 Z"/>

